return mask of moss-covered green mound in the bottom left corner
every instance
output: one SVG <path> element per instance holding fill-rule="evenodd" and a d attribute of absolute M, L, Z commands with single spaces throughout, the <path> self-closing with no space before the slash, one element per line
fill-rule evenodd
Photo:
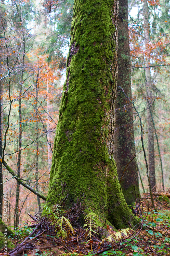
<path fill-rule="evenodd" d="M 14 231 L 8 228 L 2 219 L 0 219 L 0 250 L 14 248 L 14 244 L 8 239 L 8 236 L 13 237 L 15 235 Z M 7 246 L 6 246 L 7 245 Z M 7 248 L 6 248 L 7 247 Z M 6 251 L 7 252 L 7 251 Z"/>

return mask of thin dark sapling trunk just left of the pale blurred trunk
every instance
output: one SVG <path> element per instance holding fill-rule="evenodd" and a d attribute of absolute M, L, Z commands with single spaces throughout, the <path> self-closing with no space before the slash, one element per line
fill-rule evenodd
<path fill-rule="evenodd" d="M 35 180 L 36 180 L 36 190 L 38 191 L 38 156 L 39 156 L 39 148 L 38 148 L 38 136 L 39 136 L 39 132 L 38 132 L 38 109 L 37 109 L 37 101 L 38 101 L 38 76 L 39 76 L 39 72 L 37 73 L 37 80 L 36 80 L 36 104 L 35 104 L 35 108 L 36 108 L 36 172 L 35 172 Z M 41 202 L 40 202 L 40 197 L 37 196 L 37 201 L 38 201 L 38 208 L 39 208 L 39 212 L 41 213 L 42 209 L 41 209 Z"/>

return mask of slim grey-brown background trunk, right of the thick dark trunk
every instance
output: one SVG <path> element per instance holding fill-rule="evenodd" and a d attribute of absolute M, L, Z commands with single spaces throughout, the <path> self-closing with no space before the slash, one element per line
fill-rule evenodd
<path fill-rule="evenodd" d="M 143 17 L 144 17 L 144 33 L 145 33 L 145 67 L 150 66 L 150 59 L 148 55 L 148 43 L 150 41 L 149 35 L 149 7 L 147 1 L 143 2 Z M 150 183 L 153 191 L 156 190 L 155 180 L 155 158 L 154 158 L 154 127 L 151 117 L 153 111 L 152 106 L 152 82 L 150 68 L 145 68 L 146 91 L 147 91 L 147 124 L 148 124 L 148 154 L 149 154 L 149 175 Z M 153 115 L 153 114 L 152 114 Z"/>

